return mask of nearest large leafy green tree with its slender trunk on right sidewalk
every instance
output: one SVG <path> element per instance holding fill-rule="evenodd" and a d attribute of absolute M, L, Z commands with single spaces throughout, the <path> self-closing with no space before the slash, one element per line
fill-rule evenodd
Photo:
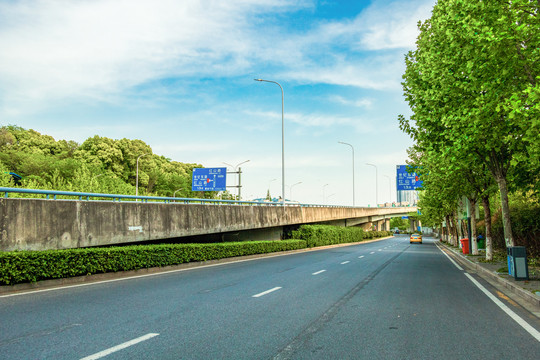
<path fill-rule="evenodd" d="M 531 39 L 537 38 L 538 7 L 527 0 L 439 1 L 420 24 L 403 75 L 413 115 L 400 117 L 402 129 L 427 151 L 449 144 L 490 170 L 509 246 L 509 171 L 526 166 L 523 154 L 537 145 L 523 136 L 530 119 L 501 104 L 536 86 L 538 42 Z"/>

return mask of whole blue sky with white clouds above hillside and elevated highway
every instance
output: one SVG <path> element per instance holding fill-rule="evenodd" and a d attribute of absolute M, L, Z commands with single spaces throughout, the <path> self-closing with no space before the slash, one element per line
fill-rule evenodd
<path fill-rule="evenodd" d="M 242 165 L 242 197 L 395 201 L 404 54 L 434 0 L 0 0 L 0 125 Z M 390 179 L 389 179 L 390 178 Z M 277 179 L 277 180 L 274 180 Z M 229 176 L 229 185 L 235 178 Z M 328 184 L 328 185 L 326 185 Z M 235 190 L 231 190 L 234 192 Z M 390 198 L 391 193 L 391 198 Z"/>

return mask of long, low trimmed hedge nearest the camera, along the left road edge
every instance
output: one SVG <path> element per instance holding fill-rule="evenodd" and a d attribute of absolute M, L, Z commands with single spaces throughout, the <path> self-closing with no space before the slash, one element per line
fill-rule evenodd
<path fill-rule="evenodd" d="M 0 285 L 303 249 L 303 240 L 0 252 Z"/>

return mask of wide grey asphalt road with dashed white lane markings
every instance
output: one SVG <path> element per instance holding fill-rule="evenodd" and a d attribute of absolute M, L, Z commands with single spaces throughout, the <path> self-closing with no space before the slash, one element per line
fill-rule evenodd
<path fill-rule="evenodd" d="M 538 359 L 538 319 L 465 273 L 398 236 L 0 296 L 0 358 Z"/>

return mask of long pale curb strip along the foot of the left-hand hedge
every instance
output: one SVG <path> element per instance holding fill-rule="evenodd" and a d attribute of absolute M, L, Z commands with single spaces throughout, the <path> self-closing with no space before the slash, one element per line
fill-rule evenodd
<path fill-rule="evenodd" d="M 37 281 L 33 283 L 21 283 L 21 284 L 15 284 L 15 285 L 0 285 L 0 297 L 9 296 L 13 294 L 24 294 L 25 292 L 34 292 L 34 291 L 40 291 L 40 290 L 45 291 L 45 290 L 50 290 L 50 289 L 62 288 L 62 287 L 80 286 L 81 284 L 129 280 L 129 279 L 137 278 L 137 277 L 153 276 L 153 275 L 166 274 L 166 273 L 171 273 L 171 272 L 186 271 L 186 270 L 202 268 L 202 267 L 219 266 L 219 265 L 235 263 L 235 262 L 252 261 L 252 260 L 257 260 L 257 259 L 262 259 L 262 258 L 272 258 L 272 257 L 277 257 L 277 256 L 293 255 L 293 254 L 309 252 L 309 251 L 318 251 L 318 250 L 325 250 L 325 249 L 345 247 L 345 246 L 368 244 L 372 242 L 386 240 L 392 237 L 393 236 L 387 236 L 387 237 L 382 237 L 379 239 L 360 241 L 360 242 L 355 242 L 355 243 L 326 245 L 326 246 L 318 246 L 314 248 L 278 251 L 278 252 L 266 253 L 266 254 L 235 256 L 235 257 L 230 257 L 230 258 L 207 260 L 207 261 L 194 261 L 194 262 L 171 265 L 171 266 L 164 266 L 164 267 L 153 267 L 153 268 L 130 270 L 130 271 L 118 271 L 118 272 L 110 272 L 110 273 L 103 273 L 103 274 L 92 274 L 92 275 L 75 276 L 71 278 L 62 278 L 62 279 L 41 280 L 41 281 Z"/>

